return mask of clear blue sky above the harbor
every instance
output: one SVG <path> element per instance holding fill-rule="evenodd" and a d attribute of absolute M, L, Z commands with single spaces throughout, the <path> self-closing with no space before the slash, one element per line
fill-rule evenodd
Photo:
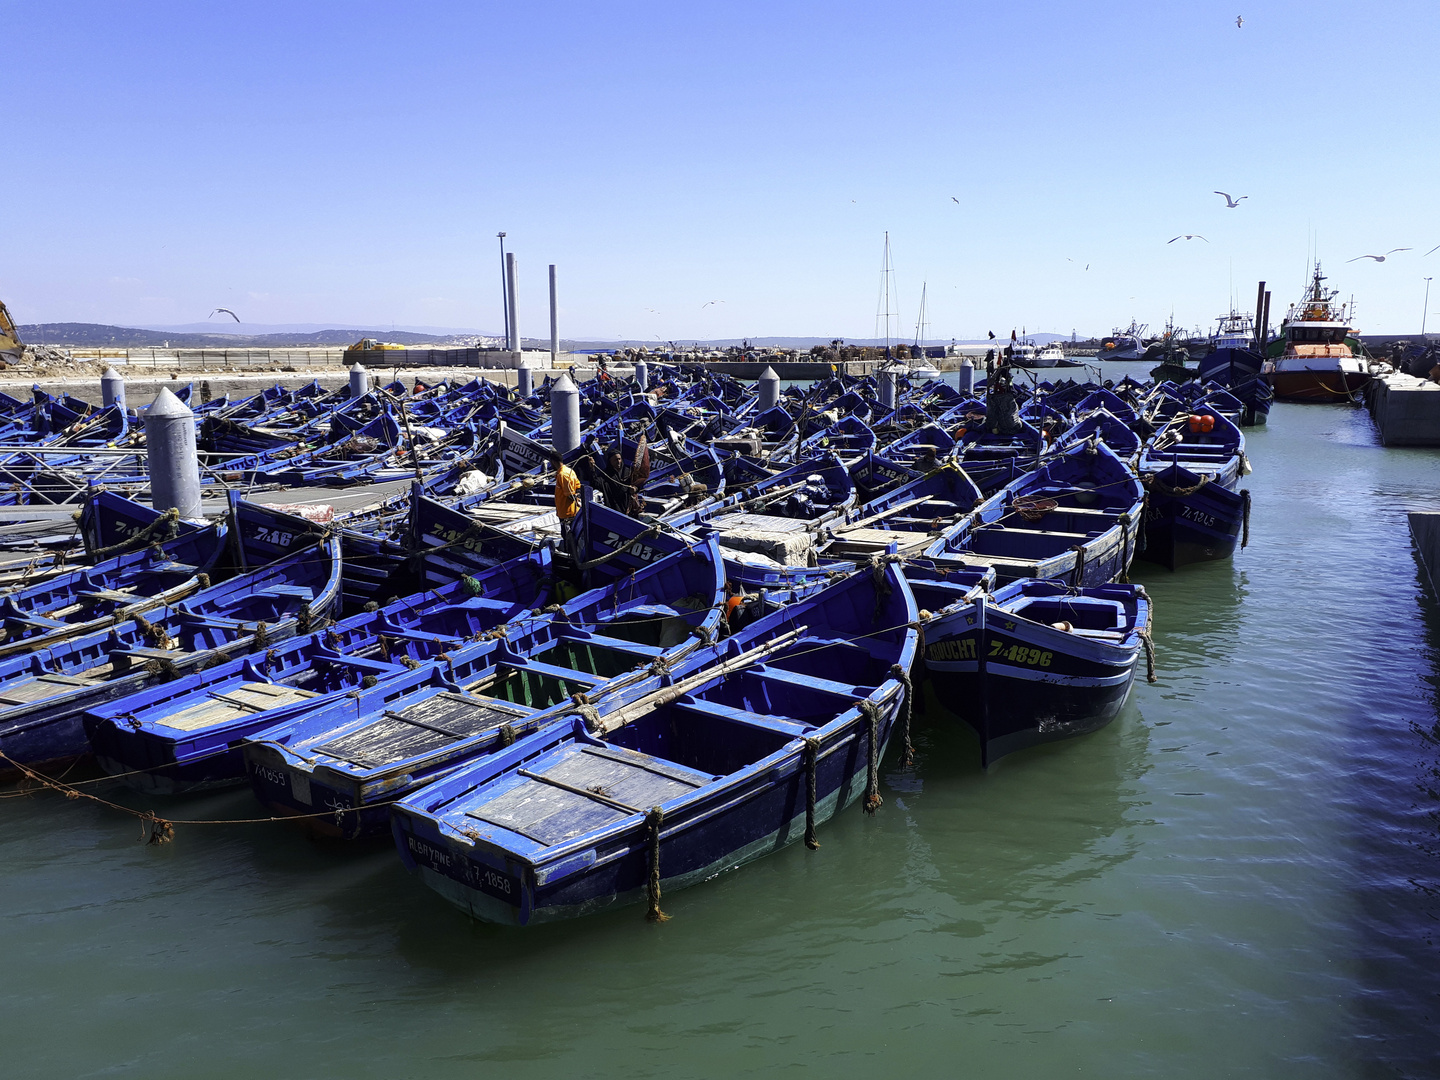
<path fill-rule="evenodd" d="M 868 337 L 886 230 L 932 338 L 1283 310 L 1310 251 L 1414 331 L 1440 271 L 1434 0 L 0 16 L 22 323 L 498 330 L 500 229 L 533 336 L 554 262 L 564 336 Z"/>

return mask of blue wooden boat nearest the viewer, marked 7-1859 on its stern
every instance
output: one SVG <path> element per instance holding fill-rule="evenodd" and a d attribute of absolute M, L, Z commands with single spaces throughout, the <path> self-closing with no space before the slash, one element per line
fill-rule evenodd
<path fill-rule="evenodd" d="M 552 724 L 393 806 L 400 857 L 475 919 L 649 900 L 799 840 L 855 799 L 906 700 L 914 598 L 896 566 L 736 635 L 592 723 Z"/>

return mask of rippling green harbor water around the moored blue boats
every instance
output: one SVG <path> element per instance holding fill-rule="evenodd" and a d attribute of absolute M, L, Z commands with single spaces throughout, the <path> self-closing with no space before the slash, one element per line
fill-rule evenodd
<path fill-rule="evenodd" d="M 986 773 L 930 703 L 876 816 L 664 924 L 482 926 L 386 847 L 0 801 L 0 1076 L 1440 1074 L 1440 613 L 1404 517 L 1440 451 L 1338 406 L 1247 436 L 1251 544 L 1136 564 L 1159 681 L 1113 724 Z"/>

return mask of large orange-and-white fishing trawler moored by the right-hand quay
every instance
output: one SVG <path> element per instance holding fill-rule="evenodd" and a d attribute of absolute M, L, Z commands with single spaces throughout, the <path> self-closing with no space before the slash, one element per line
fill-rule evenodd
<path fill-rule="evenodd" d="M 1359 354 L 1351 328 L 1351 305 L 1336 304 L 1338 289 L 1325 288 L 1320 264 L 1299 304 L 1280 325 L 1264 366 L 1274 396 L 1284 402 L 1344 402 L 1369 382 L 1369 366 Z"/>

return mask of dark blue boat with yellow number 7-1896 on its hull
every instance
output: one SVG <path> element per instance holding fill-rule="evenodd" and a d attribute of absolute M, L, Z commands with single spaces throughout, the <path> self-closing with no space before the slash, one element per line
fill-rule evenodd
<path fill-rule="evenodd" d="M 936 698 L 981 740 L 981 765 L 1096 732 L 1120 711 L 1149 634 L 1138 585 L 1076 589 L 1025 579 L 991 595 L 912 577 L 927 609 L 924 668 Z"/>

